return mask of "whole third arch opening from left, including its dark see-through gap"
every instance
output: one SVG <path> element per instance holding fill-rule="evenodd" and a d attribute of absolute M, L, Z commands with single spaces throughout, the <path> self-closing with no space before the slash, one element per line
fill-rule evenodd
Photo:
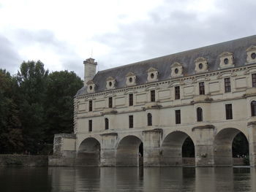
<path fill-rule="evenodd" d="M 188 134 L 174 131 L 165 137 L 161 147 L 162 166 L 195 165 L 195 145 Z"/>

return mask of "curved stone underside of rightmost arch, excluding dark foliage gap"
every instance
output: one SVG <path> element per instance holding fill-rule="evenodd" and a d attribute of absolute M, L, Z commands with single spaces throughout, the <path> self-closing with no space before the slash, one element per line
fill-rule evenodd
<path fill-rule="evenodd" d="M 223 128 L 214 137 L 214 164 L 215 166 L 232 166 L 232 144 L 237 134 L 243 133 L 238 128 Z M 245 138 L 246 134 L 244 134 Z"/>

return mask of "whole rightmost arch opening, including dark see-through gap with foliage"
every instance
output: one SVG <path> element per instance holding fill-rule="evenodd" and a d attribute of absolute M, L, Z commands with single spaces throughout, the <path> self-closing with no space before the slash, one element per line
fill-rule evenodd
<path fill-rule="evenodd" d="M 214 164 L 249 165 L 249 143 L 237 128 L 225 128 L 214 138 Z"/>

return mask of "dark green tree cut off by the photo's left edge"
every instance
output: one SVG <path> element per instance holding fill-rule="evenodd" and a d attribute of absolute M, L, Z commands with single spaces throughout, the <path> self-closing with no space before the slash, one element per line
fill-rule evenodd
<path fill-rule="evenodd" d="M 16 79 L 0 69 L 0 153 L 23 150 L 17 91 Z"/>

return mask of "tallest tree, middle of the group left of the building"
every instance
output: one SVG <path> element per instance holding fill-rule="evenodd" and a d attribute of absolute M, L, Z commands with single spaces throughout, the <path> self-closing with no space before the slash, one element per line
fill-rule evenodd
<path fill-rule="evenodd" d="M 25 148 L 30 153 L 39 153 L 44 147 L 45 84 L 48 70 L 41 61 L 23 62 L 17 79 L 20 87 L 20 121 Z"/>

